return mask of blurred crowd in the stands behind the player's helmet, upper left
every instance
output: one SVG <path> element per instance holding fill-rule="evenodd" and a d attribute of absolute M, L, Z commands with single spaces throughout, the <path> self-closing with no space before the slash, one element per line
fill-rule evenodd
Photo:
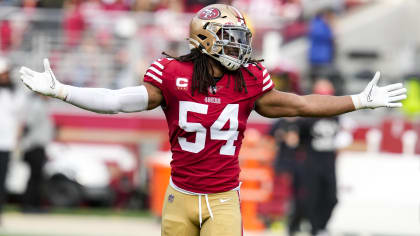
<path fill-rule="evenodd" d="M 213 3 L 247 12 L 255 53 L 263 52 L 264 32 L 284 42 L 302 37 L 321 7 L 343 12 L 360 1 L 1 1 L 1 50 L 13 61 L 48 54 L 65 82 L 119 88 L 136 84 L 151 58 L 164 50 L 184 53 L 191 14 Z M 30 58 L 28 58 L 28 56 Z M 99 79 L 100 78 L 100 79 Z"/>

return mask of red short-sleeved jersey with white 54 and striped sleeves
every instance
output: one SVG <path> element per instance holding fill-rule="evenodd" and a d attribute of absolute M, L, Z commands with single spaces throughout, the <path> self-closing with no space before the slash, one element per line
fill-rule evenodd
<path fill-rule="evenodd" d="M 191 95 L 193 63 L 159 59 L 144 81 L 162 91 L 169 127 L 173 183 L 195 193 L 218 193 L 239 186 L 239 160 L 244 131 L 255 101 L 274 85 L 267 70 L 252 64 L 241 70 L 248 93 L 235 90 L 225 74 L 208 95 Z M 232 77 L 232 78 L 229 78 Z M 210 91 L 211 88 L 209 88 Z"/>

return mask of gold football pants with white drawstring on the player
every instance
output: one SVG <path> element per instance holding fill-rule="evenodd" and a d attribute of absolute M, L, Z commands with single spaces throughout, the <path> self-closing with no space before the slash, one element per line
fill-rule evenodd
<path fill-rule="evenodd" d="M 168 186 L 162 211 L 162 236 L 241 236 L 236 190 L 190 195 Z"/>

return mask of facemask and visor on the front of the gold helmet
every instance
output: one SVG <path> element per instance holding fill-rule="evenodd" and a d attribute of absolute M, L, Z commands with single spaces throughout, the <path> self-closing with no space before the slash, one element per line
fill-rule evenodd
<path fill-rule="evenodd" d="M 205 53 L 219 61 L 228 70 L 237 70 L 251 57 L 252 34 L 246 26 L 222 25 L 210 22 L 205 26 L 215 42 Z"/>

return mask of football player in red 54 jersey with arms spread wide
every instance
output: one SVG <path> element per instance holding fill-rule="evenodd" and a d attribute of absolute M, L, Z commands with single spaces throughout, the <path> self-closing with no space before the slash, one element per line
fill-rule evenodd
<path fill-rule="evenodd" d="M 242 234 L 238 154 L 247 119 L 334 116 L 357 109 L 400 107 L 402 84 L 378 87 L 379 73 L 353 96 L 298 96 L 273 90 L 267 69 L 251 58 L 252 34 L 243 14 L 209 5 L 191 20 L 191 51 L 149 67 L 144 84 L 119 90 L 60 83 L 47 59 L 44 72 L 22 67 L 35 92 L 99 113 L 140 112 L 161 106 L 169 127 L 171 179 L 162 235 Z"/>

